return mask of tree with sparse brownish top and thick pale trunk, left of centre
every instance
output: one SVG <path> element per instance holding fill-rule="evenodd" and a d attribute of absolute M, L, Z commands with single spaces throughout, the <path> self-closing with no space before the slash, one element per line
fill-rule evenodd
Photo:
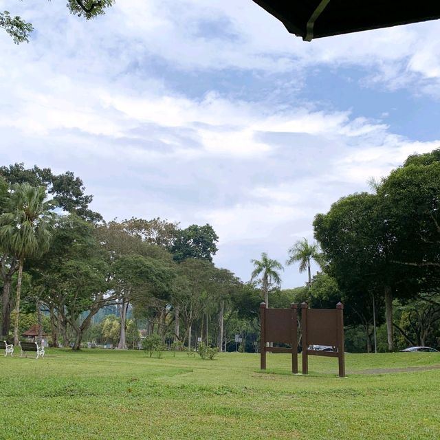
<path fill-rule="evenodd" d="M 126 311 L 131 303 L 135 303 L 136 313 L 144 316 L 155 307 L 163 335 L 169 312 L 168 275 L 171 276 L 175 265 L 164 241 L 173 230 L 174 223 L 134 218 L 120 223 L 111 221 L 96 228 L 109 265 L 109 279 L 121 307 L 119 348 L 126 347 Z"/>

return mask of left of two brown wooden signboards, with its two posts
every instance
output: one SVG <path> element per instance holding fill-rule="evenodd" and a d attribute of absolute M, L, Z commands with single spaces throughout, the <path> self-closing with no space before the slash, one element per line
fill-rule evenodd
<path fill-rule="evenodd" d="M 266 353 L 292 353 L 292 373 L 298 373 L 298 306 L 292 304 L 290 309 L 267 309 L 265 303 L 260 305 L 260 352 L 261 369 L 266 369 Z M 269 342 L 289 344 L 287 347 L 267 347 Z"/>

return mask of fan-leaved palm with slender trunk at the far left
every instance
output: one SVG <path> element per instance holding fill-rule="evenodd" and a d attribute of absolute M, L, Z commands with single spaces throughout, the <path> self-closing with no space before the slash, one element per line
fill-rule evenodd
<path fill-rule="evenodd" d="M 19 311 L 23 261 L 42 254 L 49 248 L 53 213 L 45 201 L 44 186 L 15 184 L 8 197 L 8 206 L 0 215 L 0 248 L 19 261 L 17 298 L 15 303 L 14 344 L 19 343 Z"/>

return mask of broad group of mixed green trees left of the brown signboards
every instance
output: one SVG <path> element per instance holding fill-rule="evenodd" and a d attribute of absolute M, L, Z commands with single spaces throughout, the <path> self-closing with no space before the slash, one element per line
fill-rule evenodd
<path fill-rule="evenodd" d="M 52 343 L 80 349 L 94 316 L 113 305 L 120 349 L 129 309 L 163 340 L 192 347 L 201 338 L 225 349 L 225 328 L 238 320 L 233 298 L 245 285 L 212 263 L 218 237 L 210 225 L 106 222 L 89 209 L 83 181 L 49 168 L 3 166 L 0 190 L 1 336 L 13 331 L 17 343 L 20 312 L 34 310 L 41 321 L 46 311 Z"/>

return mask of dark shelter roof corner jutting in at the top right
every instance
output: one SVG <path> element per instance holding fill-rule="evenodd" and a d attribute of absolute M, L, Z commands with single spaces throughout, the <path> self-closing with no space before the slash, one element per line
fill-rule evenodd
<path fill-rule="evenodd" d="M 311 41 L 323 36 L 440 18 L 439 0 L 254 0 L 291 34 Z"/>

